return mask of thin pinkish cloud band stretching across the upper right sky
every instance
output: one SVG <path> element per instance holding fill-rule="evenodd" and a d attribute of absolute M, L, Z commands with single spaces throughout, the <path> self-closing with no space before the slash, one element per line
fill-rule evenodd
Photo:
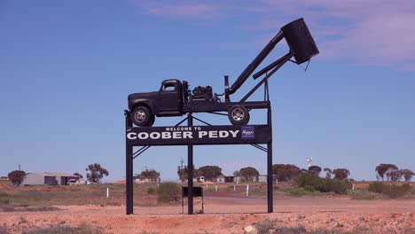
<path fill-rule="evenodd" d="M 303 17 L 320 49 L 318 59 L 395 66 L 415 70 L 415 3 L 407 0 L 257 0 L 241 2 L 134 1 L 142 11 L 163 18 L 192 19 L 211 26 L 244 18 L 241 30 L 274 34 L 289 20 Z M 219 4 L 221 3 L 221 4 Z M 257 44 L 269 38 L 258 38 Z"/>

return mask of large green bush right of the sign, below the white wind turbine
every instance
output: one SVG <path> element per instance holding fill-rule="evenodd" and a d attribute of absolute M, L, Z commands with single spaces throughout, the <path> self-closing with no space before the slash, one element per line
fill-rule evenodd
<path fill-rule="evenodd" d="M 346 194 L 348 189 L 352 186 L 348 181 L 320 178 L 318 175 L 311 175 L 307 173 L 301 173 L 294 179 L 294 181 L 301 188 L 305 189 L 307 187 L 308 191 L 311 190 L 312 187 L 317 191 L 333 191 L 337 194 Z"/>

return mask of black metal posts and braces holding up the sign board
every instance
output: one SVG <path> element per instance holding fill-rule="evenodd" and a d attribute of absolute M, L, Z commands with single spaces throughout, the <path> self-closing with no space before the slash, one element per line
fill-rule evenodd
<path fill-rule="evenodd" d="M 265 90 L 264 90 L 264 97 L 268 98 L 268 83 L 265 83 Z M 268 105 L 267 108 L 267 124 L 266 127 L 267 129 L 272 129 L 272 122 L 271 122 L 271 108 L 270 105 Z M 133 128 L 133 124 L 131 119 L 129 118 L 129 111 L 124 111 L 124 115 L 125 115 L 125 129 L 126 132 L 129 129 L 141 129 L 141 128 Z M 209 123 L 207 123 L 206 121 L 202 121 L 199 118 L 196 118 L 192 115 L 192 113 L 188 113 L 187 117 L 184 118 L 183 121 L 178 122 L 175 127 L 180 126 L 182 123 L 184 123 L 184 121 L 187 121 L 187 127 L 193 127 L 193 119 L 196 121 L 200 121 L 204 124 L 207 124 L 208 126 L 212 126 Z M 250 126 L 254 126 L 254 127 L 262 127 L 263 125 L 250 125 Z M 261 129 L 261 128 L 258 128 Z M 258 134 L 271 134 L 272 135 L 272 131 L 271 132 L 266 132 L 266 133 L 262 133 L 262 132 L 258 132 Z M 223 142 L 223 144 L 229 144 L 226 142 Z M 267 152 L 267 198 L 268 198 L 268 213 L 272 213 L 273 212 L 273 193 L 272 193 L 272 136 L 270 136 L 270 140 L 267 141 L 265 144 L 267 145 L 266 147 L 262 146 L 261 144 L 263 144 L 262 142 L 260 144 L 255 143 L 255 142 L 250 142 L 250 143 L 239 143 L 239 144 L 251 144 L 252 146 L 254 146 L 255 148 L 262 150 L 263 152 Z M 193 178 L 193 144 L 175 144 L 175 145 L 187 145 L 187 177 L 188 178 Z M 134 147 L 135 146 L 141 146 L 141 148 L 139 148 L 136 152 L 134 152 Z M 133 181 L 133 161 L 134 159 L 137 158 L 138 155 L 142 154 L 143 152 L 145 152 L 146 150 L 148 150 L 151 146 L 154 145 L 141 145 L 141 144 L 132 144 L 131 141 L 129 141 L 128 139 L 126 139 L 126 144 L 125 144 L 125 148 L 126 148 L 126 152 L 125 152 L 125 159 L 126 159 L 126 187 L 127 187 L 127 191 L 126 191 L 126 214 L 134 214 L 134 208 L 133 208 L 133 204 L 134 204 L 134 199 L 133 199 L 133 186 L 134 186 L 134 181 Z M 188 214 L 193 214 L 193 180 L 192 179 L 188 179 L 187 180 L 187 187 L 188 187 Z"/>

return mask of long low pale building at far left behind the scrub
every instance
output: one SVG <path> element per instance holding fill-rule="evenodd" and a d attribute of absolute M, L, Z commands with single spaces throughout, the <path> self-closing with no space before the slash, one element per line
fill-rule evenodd
<path fill-rule="evenodd" d="M 71 179 L 79 177 L 66 172 L 27 173 L 23 185 L 67 185 Z"/>

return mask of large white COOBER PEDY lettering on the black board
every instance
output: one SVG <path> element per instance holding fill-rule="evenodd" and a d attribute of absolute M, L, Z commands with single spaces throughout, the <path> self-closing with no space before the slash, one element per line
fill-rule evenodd
<path fill-rule="evenodd" d="M 192 131 L 162 131 L 162 132 L 129 132 L 127 138 L 129 140 L 146 140 L 146 139 L 193 139 L 193 138 L 236 138 L 239 130 L 212 130 L 198 131 L 193 134 Z M 194 135 L 194 136 L 193 136 Z"/>

